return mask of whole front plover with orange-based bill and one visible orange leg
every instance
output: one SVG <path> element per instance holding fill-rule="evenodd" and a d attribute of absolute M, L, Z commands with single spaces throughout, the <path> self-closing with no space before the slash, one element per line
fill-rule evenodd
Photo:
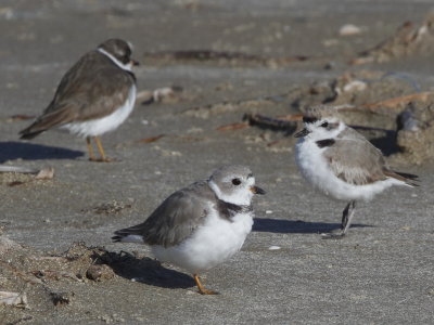
<path fill-rule="evenodd" d="M 171 194 L 143 223 L 116 231 L 113 240 L 150 245 L 159 261 L 189 271 L 199 291 L 213 295 L 199 274 L 241 249 L 252 230 L 254 194 L 265 192 L 247 167 L 224 166 L 207 181 Z"/>

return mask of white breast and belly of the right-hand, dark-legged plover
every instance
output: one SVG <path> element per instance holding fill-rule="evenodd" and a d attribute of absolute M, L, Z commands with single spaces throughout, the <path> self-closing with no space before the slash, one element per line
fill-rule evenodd
<path fill-rule="evenodd" d="M 319 148 L 314 141 L 302 139 L 295 145 L 295 159 L 304 178 L 327 195 L 342 200 L 369 200 L 374 195 L 392 185 L 405 185 L 404 182 L 388 178 L 367 185 L 349 184 L 330 169 L 322 155 L 324 148 Z"/>

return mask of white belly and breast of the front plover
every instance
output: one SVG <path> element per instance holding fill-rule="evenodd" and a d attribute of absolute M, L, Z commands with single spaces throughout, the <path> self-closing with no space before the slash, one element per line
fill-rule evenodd
<path fill-rule="evenodd" d="M 209 213 L 204 225 L 178 246 L 152 246 L 154 256 L 191 273 L 209 270 L 241 249 L 253 225 L 253 212 L 239 213 L 232 222 Z"/>

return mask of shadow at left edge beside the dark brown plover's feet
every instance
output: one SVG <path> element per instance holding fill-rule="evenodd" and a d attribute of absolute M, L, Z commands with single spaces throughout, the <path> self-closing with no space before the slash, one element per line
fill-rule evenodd
<path fill-rule="evenodd" d="M 81 156 L 84 156 L 82 152 L 63 147 L 17 141 L 0 141 L 0 164 L 15 159 L 75 159 Z"/>

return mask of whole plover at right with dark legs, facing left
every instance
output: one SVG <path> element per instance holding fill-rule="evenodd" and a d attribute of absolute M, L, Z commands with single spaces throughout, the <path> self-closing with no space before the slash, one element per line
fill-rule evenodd
<path fill-rule="evenodd" d="M 392 185 L 417 186 L 417 177 L 391 170 L 380 152 L 363 135 L 331 114 L 332 108 L 311 108 L 305 128 L 295 134 L 299 171 L 327 195 L 348 202 L 342 216 L 342 237 L 349 229 L 356 200 L 369 200 Z"/>

